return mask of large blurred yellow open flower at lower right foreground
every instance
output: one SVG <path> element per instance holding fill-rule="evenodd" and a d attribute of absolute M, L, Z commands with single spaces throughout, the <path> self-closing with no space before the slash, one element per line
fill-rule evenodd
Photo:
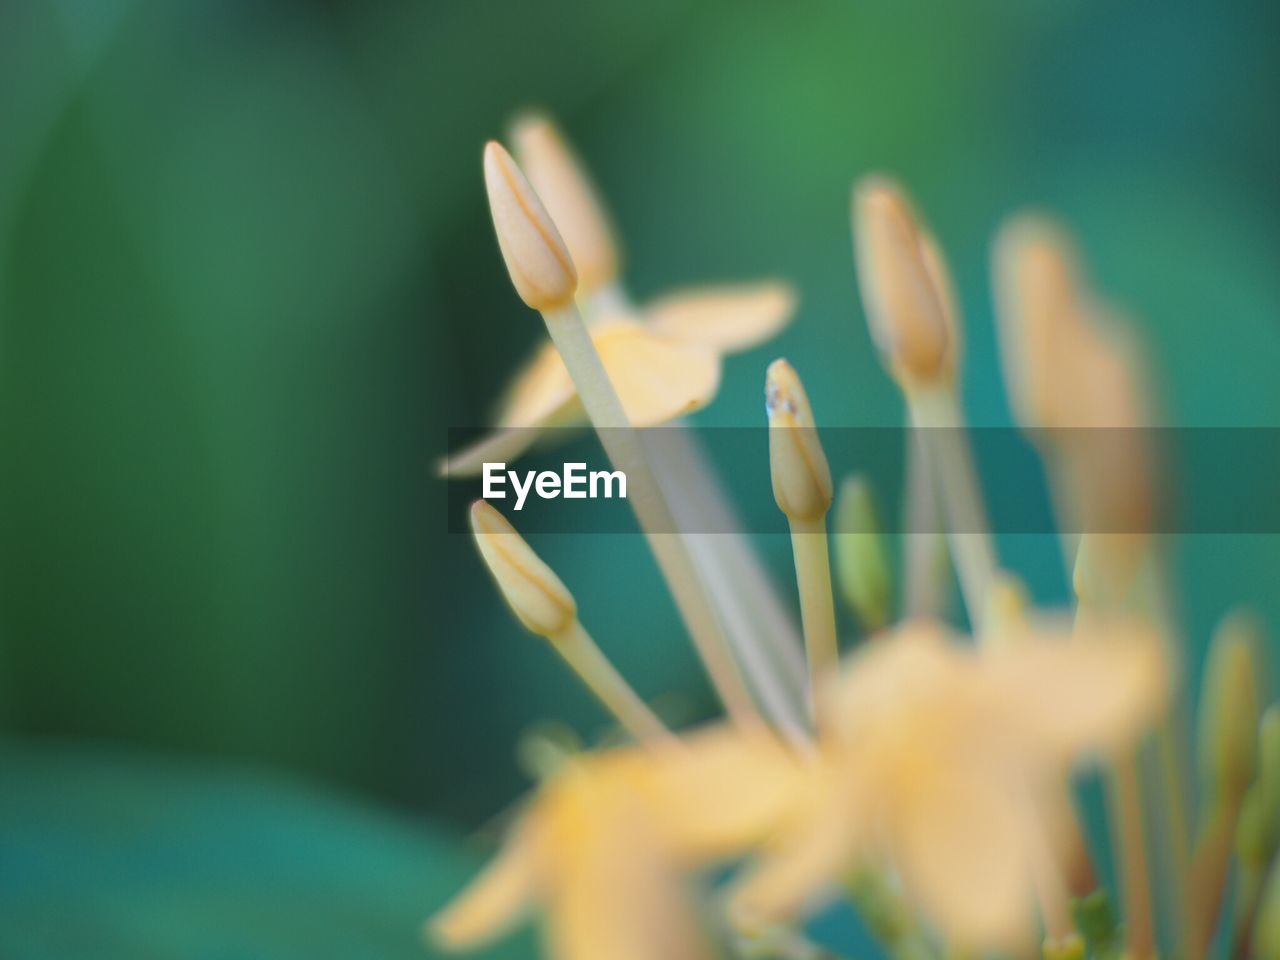
<path fill-rule="evenodd" d="M 1157 637 L 1124 623 L 978 652 L 913 623 L 854 657 L 827 691 L 822 776 L 735 893 L 745 925 L 799 913 L 863 867 L 968 948 L 1014 948 L 1069 809 L 1065 773 L 1132 744 L 1167 675 Z"/>

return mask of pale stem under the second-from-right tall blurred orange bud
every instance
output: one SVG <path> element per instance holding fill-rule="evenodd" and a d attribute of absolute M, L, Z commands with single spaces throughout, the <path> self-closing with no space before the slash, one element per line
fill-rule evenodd
<path fill-rule="evenodd" d="M 996 548 L 973 467 L 964 415 L 951 387 L 908 393 L 911 424 L 923 430 L 924 452 L 942 498 L 947 543 L 960 579 L 969 623 L 982 634 L 987 591 L 996 575 Z"/>

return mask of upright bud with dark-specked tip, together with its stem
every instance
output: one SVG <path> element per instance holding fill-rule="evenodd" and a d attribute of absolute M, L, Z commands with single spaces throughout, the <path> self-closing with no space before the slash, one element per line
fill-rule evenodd
<path fill-rule="evenodd" d="M 769 417 L 773 498 L 791 525 L 813 707 L 822 682 L 836 669 L 840 657 L 827 547 L 831 467 L 818 439 L 804 385 L 787 361 L 776 360 L 769 365 L 764 396 Z"/>

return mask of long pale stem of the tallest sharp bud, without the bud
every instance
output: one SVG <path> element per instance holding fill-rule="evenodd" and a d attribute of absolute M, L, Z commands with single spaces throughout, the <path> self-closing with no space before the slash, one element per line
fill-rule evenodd
<path fill-rule="evenodd" d="M 627 477 L 631 509 L 658 561 L 667 589 L 684 617 L 716 692 L 735 722 L 758 724 L 759 713 L 724 639 L 716 609 L 694 570 L 662 486 L 645 458 L 644 447 L 631 429 L 622 401 L 609 383 L 609 375 L 600 362 L 600 355 L 595 352 L 595 344 L 591 343 L 577 307 L 571 303 L 562 310 L 543 314 L 543 319 L 609 462 Z"/>

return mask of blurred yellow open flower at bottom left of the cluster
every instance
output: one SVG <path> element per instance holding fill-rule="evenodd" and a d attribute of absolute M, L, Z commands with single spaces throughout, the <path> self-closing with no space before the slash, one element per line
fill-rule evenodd
<path fill-rule="evenodd" d="M 557 960 L 708 957 L 684 876 L 763 840 L 790 805 L 791 765 L 772 739 L 727 727 L 567 760 L 428 932 L 477 946 L 540 904 Z"/>

